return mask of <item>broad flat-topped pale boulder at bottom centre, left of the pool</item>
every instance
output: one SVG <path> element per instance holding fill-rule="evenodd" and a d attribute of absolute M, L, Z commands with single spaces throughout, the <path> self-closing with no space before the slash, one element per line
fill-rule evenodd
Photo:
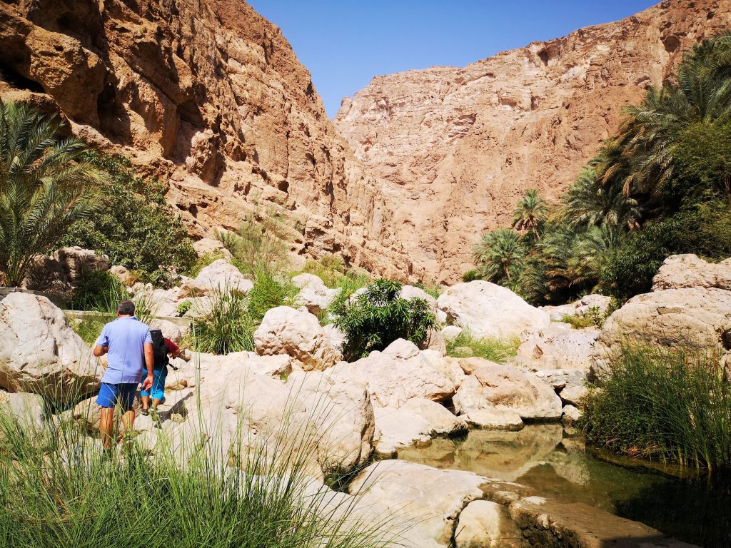
<path fill-rule="evenodd" d="M 384 509 L 384 517 L 391 514 L 410 522 L 404 534 L 409 546 L 442 548 L 450 545 L 463 508 L 484 498 L 480 487 L 487 482 L 471 472 L 383 460 L 361 472 L 350 484 L 350 493 L 360 497 L 358 506 Z"/>

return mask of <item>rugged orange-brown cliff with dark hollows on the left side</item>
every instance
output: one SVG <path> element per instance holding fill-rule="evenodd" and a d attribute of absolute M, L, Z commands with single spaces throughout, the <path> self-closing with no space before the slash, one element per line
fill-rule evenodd
<path fill-rule="evenodd" d="M 241 0 L 0 4 L 0 96 L 167 183 L 194 236 L 277 215 L 292 250 L 377 273 L 409 264 L 379 181 L 333 129 L 309 72 Z"/>

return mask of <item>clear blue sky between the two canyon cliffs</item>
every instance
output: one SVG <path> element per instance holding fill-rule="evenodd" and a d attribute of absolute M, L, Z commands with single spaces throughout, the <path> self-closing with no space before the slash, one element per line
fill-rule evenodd
<path fill-rule="evenodd" d="M 332 118 L 375 75 L 464 66 L 659 0 L 249 0 L 281 27 Z"/>

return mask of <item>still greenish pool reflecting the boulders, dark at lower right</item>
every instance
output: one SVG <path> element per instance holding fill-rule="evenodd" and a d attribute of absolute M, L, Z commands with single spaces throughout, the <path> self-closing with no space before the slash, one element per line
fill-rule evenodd
<path fill-rule="evenodd" d="M 731 547 L 731 482 L 609 463 L 585 451 L 561 425 L 519 432 L 472 430 L 400 449 L 398 458 L 533 487 L 562 503 L 587 503 L 705 548 Z M 630 461 L 627 461 L 628 464 Z"/>

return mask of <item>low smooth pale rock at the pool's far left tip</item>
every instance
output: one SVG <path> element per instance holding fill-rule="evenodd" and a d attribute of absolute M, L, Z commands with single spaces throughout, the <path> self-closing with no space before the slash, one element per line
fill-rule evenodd
<path fill-rule="evenodd" d="M 400 408 L 374 407 L 376 453 L 391 455 L 400 446 L 424 443 L 433 435 L 452 435 L 467 429 L 466 422 L 432 400 L 415 397 Z"/>

